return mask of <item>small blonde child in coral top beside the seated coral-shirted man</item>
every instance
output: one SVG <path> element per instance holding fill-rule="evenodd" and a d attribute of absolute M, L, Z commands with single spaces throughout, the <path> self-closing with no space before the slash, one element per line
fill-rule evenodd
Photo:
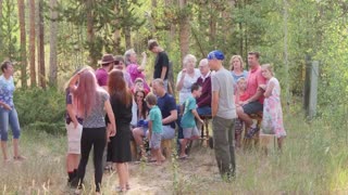
<path fill-rule="evenodd" d="M 237 79 L 236 84 L 237 91 L 236 91 L 236 106 L 240 106 L 240 102 L 247 101 L 250 95 L 246 93 L 247 89 L 247 80 L 245 77 L 240 77 Z M 241 139 L 241 132 L 243 132 L 243 120 L 240 118 L 236 118 L 235 120 L 235 140 L 236 140 L 236 147 L 240 147 L 240 139 Z"/>

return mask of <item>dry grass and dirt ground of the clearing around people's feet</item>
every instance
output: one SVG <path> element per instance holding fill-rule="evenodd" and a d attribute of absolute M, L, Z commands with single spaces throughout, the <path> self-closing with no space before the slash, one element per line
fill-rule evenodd
<path fill-rule="evenodd" d="M 335 120 L 303 120 L 299 108 L 285 115 L 284 151 L 265 156 L 258 151 L 238 151 L 236 178 L 224 182 L 208 147 L 194 147 L 190 159 L 173 158 L 163 166 L 130 164 L 128 194 L 347 194 L 348 153 L 346 128 Z M 3 194 L 67 194 L 65 138 L 25 131 L 24 162 L 0 167 Z M 92 167 L 87 168 L 85 194 L 94 192 Z M 175 176 L 174 176 L 175 174 Z M 116 173 L 103 177 L 104 194 L 114 194 Z"/>

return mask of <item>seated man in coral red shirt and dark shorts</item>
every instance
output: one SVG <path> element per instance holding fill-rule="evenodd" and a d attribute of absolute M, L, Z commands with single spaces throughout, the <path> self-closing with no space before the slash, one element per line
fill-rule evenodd
<path fill-rule="evenodd" d="M 250 114 L 258 114 L 263 110 L 263 90 L 259 88 L 260 84 L 265 83 L 264 77 L 261 75 L 261 66 L 259 63 L 260 53 L 249 52 L 248 63 L 249 63 L 249 75 L 247 79 L 247 90 L 246 93 L 250 98 L 244 102 L 240 102 L 240 107 L 237 108 L 238 117 L 246 122 L 248 132 L 246 138 L 252 138 L 259 131 L 257 122 L 252 121 Z"/>

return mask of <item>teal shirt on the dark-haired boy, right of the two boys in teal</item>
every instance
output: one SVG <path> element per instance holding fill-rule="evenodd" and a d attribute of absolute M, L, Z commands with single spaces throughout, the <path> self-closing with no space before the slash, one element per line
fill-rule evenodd
<path fill-rule="evenodd" d="M 192 109 L 196 109 L 196 99 L 189 96 L 185 101 L 185 112 L 182 117 L 182 128 L 194 128 L 196 126 L 195 115 Z"/>

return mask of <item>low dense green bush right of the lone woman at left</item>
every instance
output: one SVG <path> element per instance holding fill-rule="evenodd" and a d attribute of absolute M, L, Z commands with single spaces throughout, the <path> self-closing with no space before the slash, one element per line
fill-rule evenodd
<path fill-rule="evenodd" d="M 14 105 L 22 127 L 47 132 L 65 132 L 65 95 L 57 89 L 18 89 L 14 93 Z"/>

